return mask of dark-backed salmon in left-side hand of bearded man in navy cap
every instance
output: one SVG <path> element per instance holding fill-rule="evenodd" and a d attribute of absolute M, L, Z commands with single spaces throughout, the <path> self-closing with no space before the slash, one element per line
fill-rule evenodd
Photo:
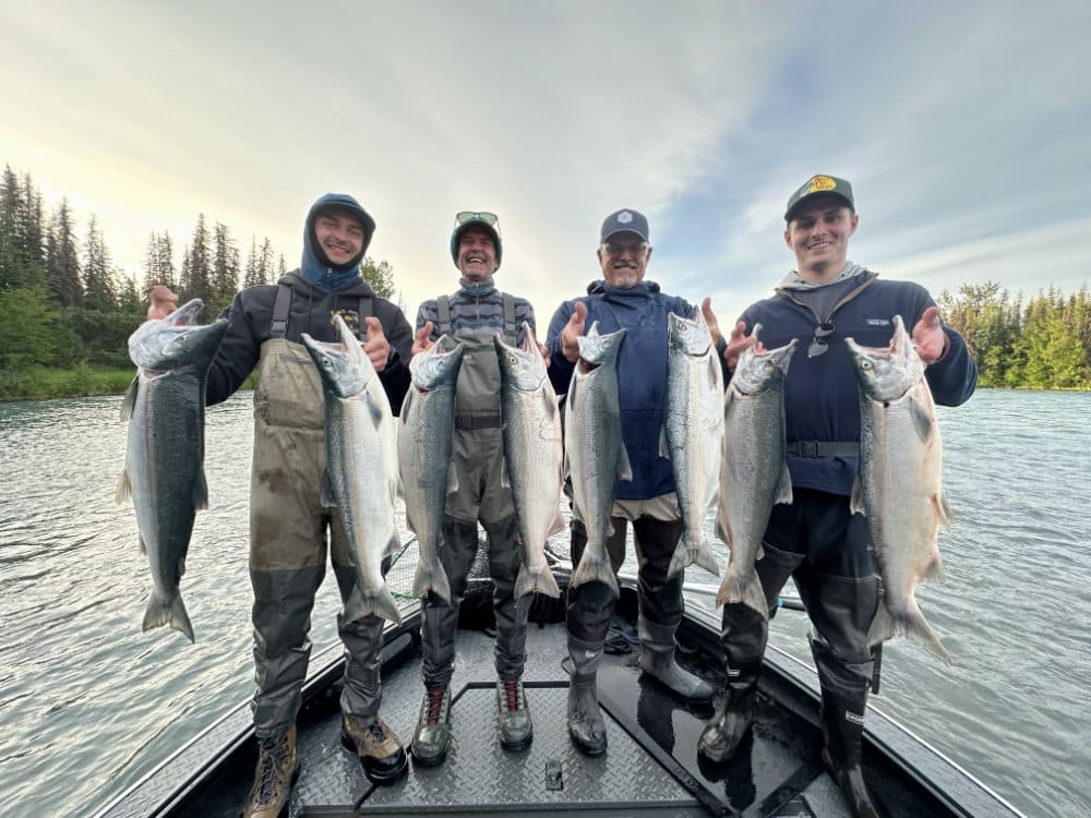
<path fill-rule="evenodd" d="M 604 582 L 619 596 L 607 540 L 619 480 L 632 480 L 621 437 L 618 356 L 626 329 L 599 335 L 598 322 L 579 337 L 579 360 L 565 399 L 564 456 L 572 476 L 573 512 L 587 529 L 587 545 L 572 573 L 571 586 Z"/>

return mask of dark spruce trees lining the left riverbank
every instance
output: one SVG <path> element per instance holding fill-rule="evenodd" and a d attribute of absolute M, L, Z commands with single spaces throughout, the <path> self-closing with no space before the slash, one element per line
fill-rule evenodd
<path fill-rule="evenodd" d="M 295 266 L 295 265 L 293 265 Z M 43 369 L 130 370 L 127 341 L 144 320 L 147 294 L 166 285 L 181 303 L 200 298 L 202 321 L 218 315 L 241 287 L 275 282 L 287 264 L 266 237 L 253 237 L 243 265 L 227 225 L 197 215 L 177 263 L 168 231 L 152 231 L 144 268 L 112 261 L 93 214 L 80 232 L 68 199 L 47 210 L 28 173 L 0 176 L 0 399 L 36 396 Z M 376 293 L 394 296 L 394 272 L 368 257 L 361 272 Z M 91 389 L 94 390 L 94 389 Z"/>

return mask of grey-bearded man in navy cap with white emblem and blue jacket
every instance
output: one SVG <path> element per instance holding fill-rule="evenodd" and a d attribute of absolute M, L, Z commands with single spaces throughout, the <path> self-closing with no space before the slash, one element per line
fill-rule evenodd
<path fill-rule="evenodd" d="M 550 322 L 546 346 L 549 374 L 558 394 L 568 390 L 579 359 L 577 338 L 585 325 L 598 322 L 601 334 L 628 330 L 618 361 L 622 440 L 628 453 L 633 480 L 619 482 L 607 543 L 616 573 L 625 558 L 626 526 L 632 522 L 639 564 L 640 667 L 679 696 L 708 701 L 712 687 L 683 670 L 675 661 L 674 631 L 682 621 L 682 574 L 668 579 L 671 556 L 682 537 L 682 521 L 669 460 L 659 456 L 667 388 L 668 313 L 693 317 L 695 308 L 684 299 L 660 291 L 644 280 L 651 246 L 648 220 L 633 209 L 607 216 L 598 249 L 602 279 L 587 288 L 587 296 L 566 301 Z M 706 299 L 703 305 L 710 327 L 716 326 Z M 719 346 L 719 333 L 714 335 Z M 573 517 L 572 563 L 577 565 L 587 545 L 582 520 Z M 589 756 L 607 748 L 606 722 L 599 710 L 596 676 L 615 599 L 600 581 L 568 589 L 566 625 L 568 659 L 568 733 L 576 747 Z"/>

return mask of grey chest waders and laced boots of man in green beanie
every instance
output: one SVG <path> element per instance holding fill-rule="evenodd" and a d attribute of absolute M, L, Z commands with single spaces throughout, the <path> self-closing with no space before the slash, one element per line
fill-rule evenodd
<path fill-rule="evenodd" d="M 502 335 L 506 344 L 515 345 L 515 300 L 506 292 L 503 300 Z M 436 299 L 436 306 L 434 334 L 451 335 L 449 298 L 441 296 Z M 425 689 L 412 747 L 418 761 L 424 765 L 443 761 L 449 741 L 444 701 L 449 700 L 447 688 L 454 671 L 458 604 L 478 553 L 479 520 L 489 543 L 492 606 L 496 617 L 494 658 L 500 677 L 497 706 L 501 709 L 501 741 L 505 746 L 518 749 L 526 747 L 531 738 L 530 715 L 523 698 L 521 682 L 518 681 L 526 662 L 530 598 L 517 600 L 514 594 L 523 553 L 512 491 L 501 482 L 504 438 L 500 413 L 500 364 L 492 335 L 455 337 L 466 347 L 455 388 L 452 442 L 458 491 L 447 495 L 439 553 L 451 581 L 451 604 L 429 593 L 421 605 L 421 676 Z M 516 702 L 514 709 L 507 707 L 509 699 Z"/>

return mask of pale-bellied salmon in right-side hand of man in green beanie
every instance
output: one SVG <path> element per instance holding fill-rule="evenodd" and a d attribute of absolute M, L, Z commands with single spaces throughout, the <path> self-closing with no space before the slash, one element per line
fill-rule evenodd
<path fill-rule="evenodd" d="M 523 324 L 523 347 L 509 347 L 493 336 L 500 360 L 501 414 L 504 419 L 504 464 L 523 540 L 523 566 L 515 596 L 539 591 L 560 597 L 546 562 L 549 537 L 564 529 L 561 485 L 564 445 L 556 393 L 538 351 L 535 332 Z"/>

